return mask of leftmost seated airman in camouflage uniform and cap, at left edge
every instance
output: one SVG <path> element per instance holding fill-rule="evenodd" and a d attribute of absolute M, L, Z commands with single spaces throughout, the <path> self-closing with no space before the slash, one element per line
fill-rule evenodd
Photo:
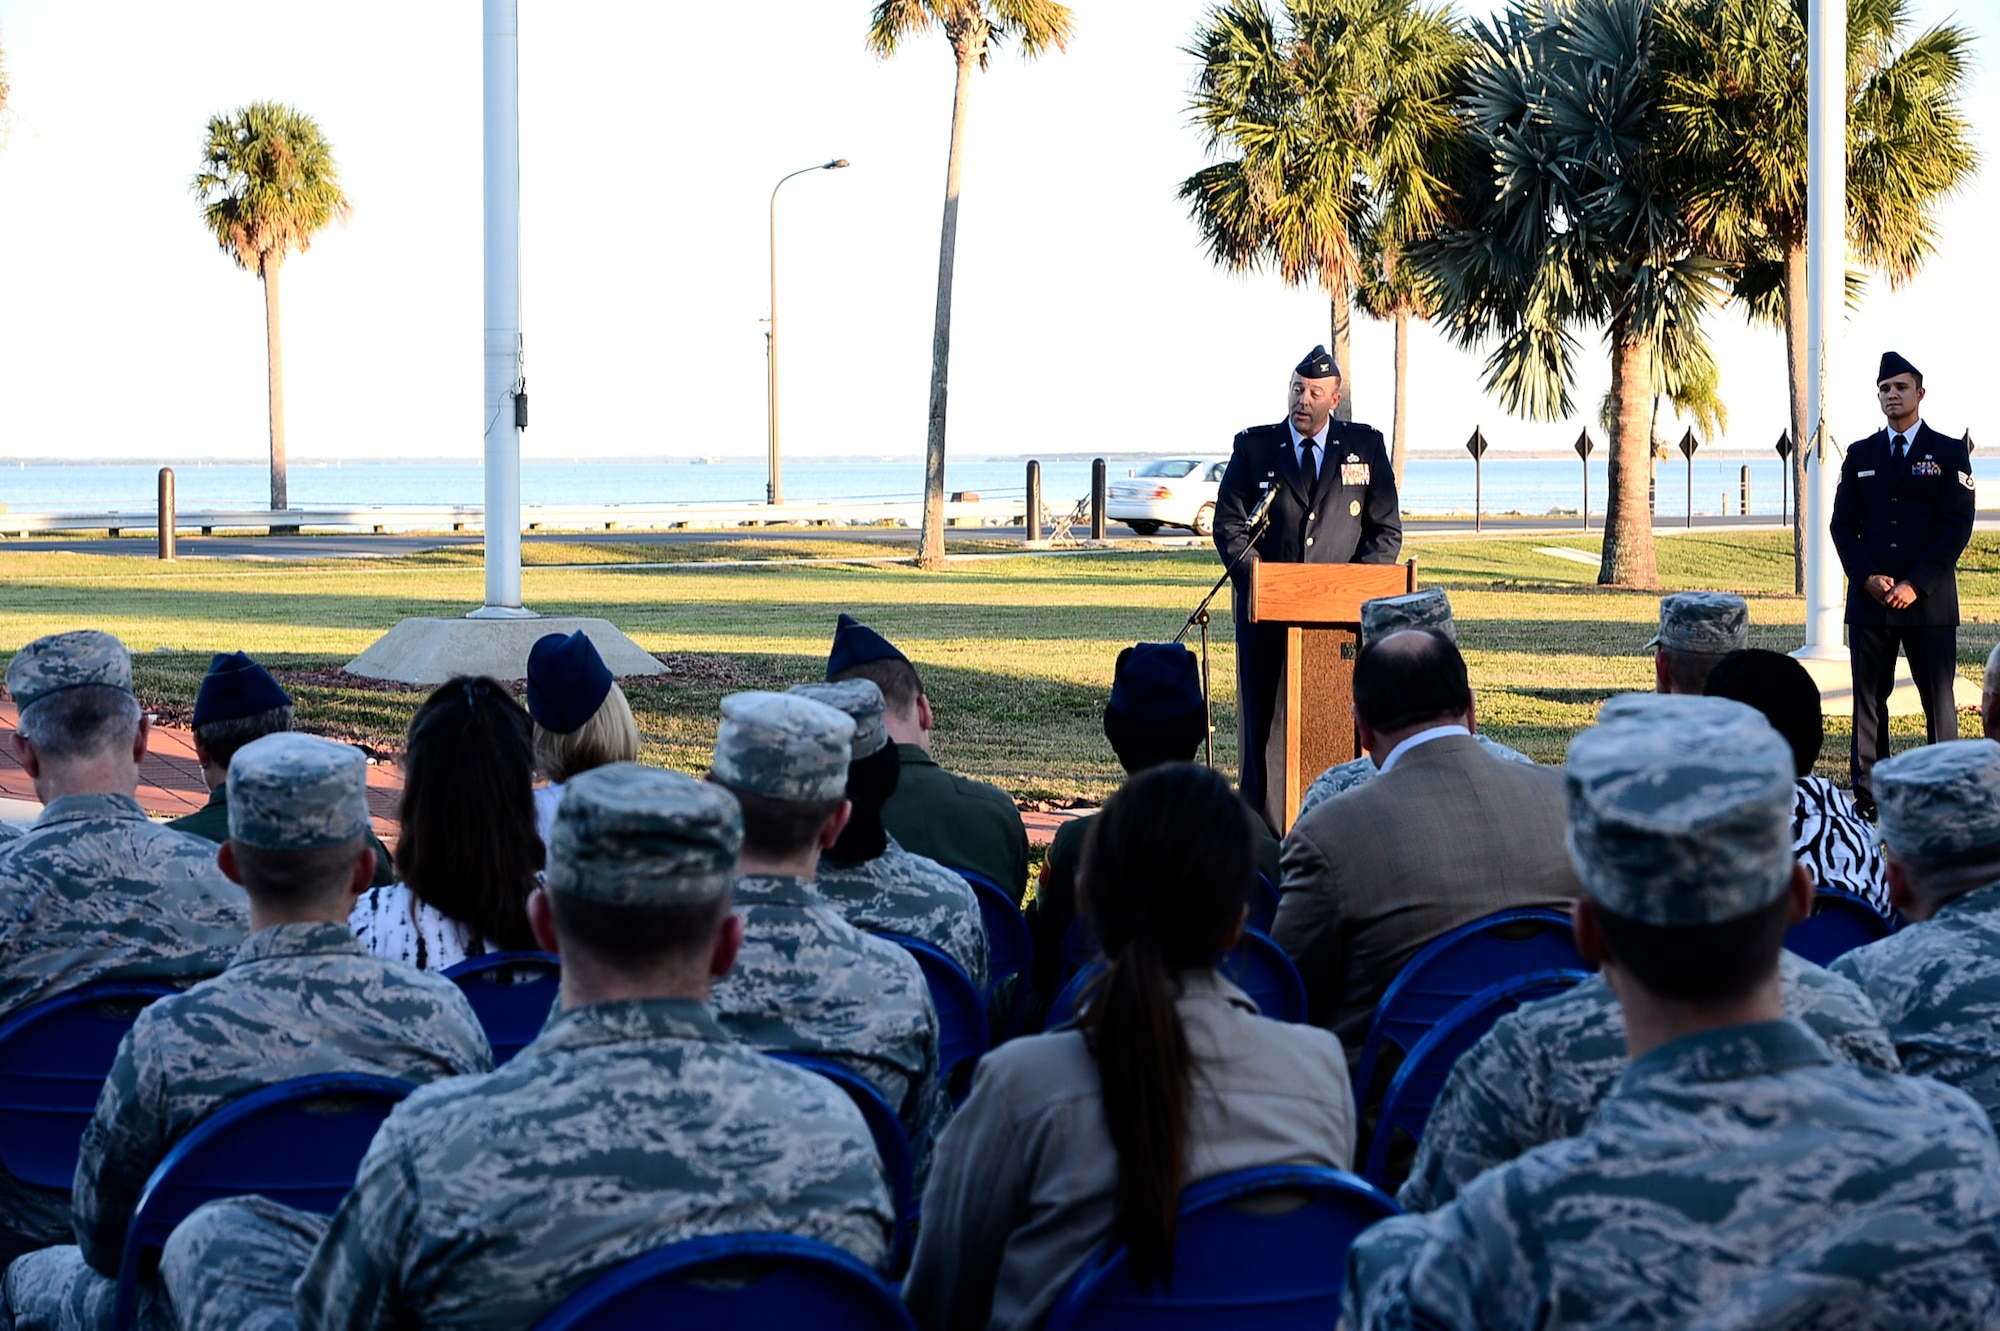
<path fill-rule="evenodd" d="M 146 819 L 148 725 L 110 634 L 36 638 L 6 669 L 14 755 L 42 815 L 0 843 L 0 1017 L 100 979 L 194 981 L 228 965 L 248 905 L 212 841 Z M 0 1263 L 70 1241 L 70 1193 L 0 1169 Z"/>

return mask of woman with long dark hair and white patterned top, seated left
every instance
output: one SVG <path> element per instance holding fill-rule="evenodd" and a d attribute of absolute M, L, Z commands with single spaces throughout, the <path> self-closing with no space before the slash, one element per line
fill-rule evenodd
<path fill-rule="evenodd" d="M 402 881 L 356 901 L 370 953 L 442 971 L 488 951 L 534 951 L 528 893 L 542 871 L 528 713 L 498 679 L 454 677 L 410 717 Z"/>

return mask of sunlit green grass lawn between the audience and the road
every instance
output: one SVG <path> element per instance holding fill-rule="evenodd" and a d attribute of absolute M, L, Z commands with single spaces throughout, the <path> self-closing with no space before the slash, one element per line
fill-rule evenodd
<path fill-rule="evenodd" d="M 1584 564 L 1536 554 L 1596 552 L 1596 538 L 1418 538 L 1422 586 L 1452 594 L 1480 693 L 1480 727 L 1542 761 L 1562 757 L 1610 693 L 1652 687 L 1640 646 L 1654 594 L 1604 592 Z M 1004 550 L 994 542 L 962 550 Z M 1020 799 L 1102 799 L 1118 767 L 1100 729 L 1122 646 L 1172 638 L 1216 578 L 1208 550 L 1024 556 L 920 574 L 864 542 L 706 542 L 700 546 L 534 544 L 524 600 L 544 614 L 602 616 L 660 654 L 670 673 L 628 681 L 648 761 L 698 771 L 716 701 L 740 687 L 818 679 L 842 610 L 890 636 L 924 673 L 938 711 L 938 757 Z M 960 546 L 954 544 L 954 550 Z M 758 568 L 700 568 L 756 560 Z M 614 568 L 568 568 L 568 566 Z M 616 568 L 616 566 L 646 568 Z M 666 566 L 666 568 L 658 568 Z M 1800 642 L 1790 538 L 1776 532 L 1660 542 L 1666 590 L 1750 598 L 1752 646 Z M 208 654 L 246 650 L 270 664 L 306 727 L 392 753 L 422 691 L 338 667 L 406 616 L 458 616 L 480 602 L 478 554 L 394 560 L 204 562 L 0 548 L 0 648 L 40 634 L 102 628 L 136 656 L 136 681 L 166 717 L 192 707 Z M 1978 679 L 2000 628 L 2000 538 L 1980 534 L 1960 562 L 1966 628 L 1960 669 Z M 1226 598 L 1214 624 L 1216 757 L 1234 767 L 1234 669 Z M 1898 737 L 1918 735 L 1898 721 Z M 1844 779 L 1848 725 L 1828 719 L 1820 769 Z"/>

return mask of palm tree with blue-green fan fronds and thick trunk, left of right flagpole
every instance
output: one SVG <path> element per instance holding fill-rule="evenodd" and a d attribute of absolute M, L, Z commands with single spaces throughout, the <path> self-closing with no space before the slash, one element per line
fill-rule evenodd
<path fill-rule="evenodd" d="M 1476 30 L 1452 210 L 1410 246 L 1460 346 L 1494 344 L 1486 388 L 1516 414 L 1572 414 L 1578 330 L 1612 354 L 1600 584 L 1652 588 L 1650 416 L 1714 374 L 1702 330 L 1722 272 L 1684 222 L 1660 144 L 1652 0 L 1512 0 Z"/>

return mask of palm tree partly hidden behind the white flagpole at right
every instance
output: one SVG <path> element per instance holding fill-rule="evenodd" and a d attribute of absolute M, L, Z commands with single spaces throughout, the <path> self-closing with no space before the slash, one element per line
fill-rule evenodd
<path fill-rule="evenodd" d="M 1734 296 L 1784 330 L 1792 438 L 1806 422 L 1806 4 L 1680 0 L 1660 18 L 1670 154 L 1690 180 L 1688 222 L 1736 266 Z M 1848 0 L 1848 256 L 1902 286 L 1936 242 L 1936 208 L 1972 176 L 1960 110 L 1972 36 L 1910 38 L 1908 0 Z M 1852 290 L 1850 282 L 1850 290 Z M 1806 450 L 1792 452 L 1794 492 Z M 1806 590 L 1806 516 L 1794 526 Z"/>

